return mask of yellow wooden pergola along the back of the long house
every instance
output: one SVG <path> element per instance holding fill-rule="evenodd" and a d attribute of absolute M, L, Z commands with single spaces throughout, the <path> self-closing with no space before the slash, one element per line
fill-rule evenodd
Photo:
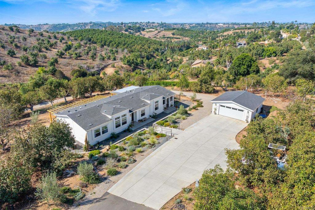
<path fill-rule="evenodd" d="M 106 97 L 112 96 L 112 95 L 113 94 L 97 95 L 97 96 L 86 98 L 86 99 L 83 99 L 83 100 L 80 100 L 80 101 L 72 102 L 72 103 L 69 103 L 69 104 L 66 104 L 66 105 L 62 105 L 62 106 L 59 106 L 59 107 L 55 107 L 55 108 L 49 109 L 48 112 L 49 112 L 50 122 L 51 123 L 53 122 L 53 118 L 52 118 L 51 114 L 56 114 L 58 112 L 63 112 L 65 110 L 67 110 L 67 109 L 71 109 L 71 108 L 74 108 L 74 107 L 77 107 L 77 106 L 81 106 L 83 104 L 87 104 L 87 103 L 90 103 L 90 102 L 95 102 L 97 100 L 100 100 L 102 98 L 106 98 Z"/>

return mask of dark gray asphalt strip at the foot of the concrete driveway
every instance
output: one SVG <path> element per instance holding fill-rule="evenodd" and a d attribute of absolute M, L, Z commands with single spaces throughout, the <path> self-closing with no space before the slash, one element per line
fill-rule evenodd
<path fill-rule="evenodd" d="M 108 192 L 94 202 L 94 205 L 89 208 L 90 210 L 153 210 L 153 208 L 128 201 Z"/>

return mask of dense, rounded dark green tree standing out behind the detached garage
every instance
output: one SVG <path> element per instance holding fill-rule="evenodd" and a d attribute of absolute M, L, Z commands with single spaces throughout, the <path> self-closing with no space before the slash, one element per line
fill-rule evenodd
<path fill-rule="evenodd" d="M 238 55 L 229 68 L 233 76 L 247 76 L 249 74 L 258 74 L 259 66 L 257 61 L 247 53 Z"/>

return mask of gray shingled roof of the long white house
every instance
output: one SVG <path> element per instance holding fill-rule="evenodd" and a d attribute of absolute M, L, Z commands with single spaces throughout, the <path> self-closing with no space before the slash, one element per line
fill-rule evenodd
<path fill-rule="evenodd" d="M 143 86 L 95 102 L 67 109 L 55 115 L 67 115 L 87 131 L 111 121 L 112 119 L 108 116 L 118 114 L 128 109 L 129 111 L 135 111 L 150 105 L 150 103 L 145 100 L 153 100 L 161 96 L 166 98 L 174 95 L 175 93 L 159 85 Z M 144 100 L 141 100 L 141 98 Z"/>

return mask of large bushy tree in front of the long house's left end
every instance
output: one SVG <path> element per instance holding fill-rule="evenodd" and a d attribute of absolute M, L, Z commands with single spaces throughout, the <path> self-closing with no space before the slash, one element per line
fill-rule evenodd
<path fill-rule="evenodd" d="M 38 123 L 16 137 L 12 152 L 34 170 L 60 174 L 66 166 L 64 157 L 74 143 L 68 124 L 53 122 L 46 127 Z"/>

